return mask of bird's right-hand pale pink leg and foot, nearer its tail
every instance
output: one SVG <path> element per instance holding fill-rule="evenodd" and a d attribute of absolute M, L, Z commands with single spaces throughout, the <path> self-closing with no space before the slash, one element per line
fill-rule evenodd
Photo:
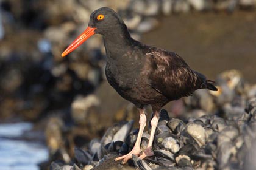
<path fill-rule="evenodd" d="M 152 144 L 154 140 L 155 129 L 157 129 L 157 124 L 159 120 L 159 112 L 155 111 L 153 114 L 154 114 L 154 117 L 151 120 L 151 133 L 150 133 L 149 143 L 147 148 L 143 152 L 143 154 L 140 155 L 141 159 L 154 155 L 154 152 L 152 151 Z"/>

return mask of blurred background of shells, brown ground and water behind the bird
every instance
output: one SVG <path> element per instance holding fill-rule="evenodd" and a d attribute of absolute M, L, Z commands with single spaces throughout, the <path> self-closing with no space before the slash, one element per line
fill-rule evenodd
<path fill-rule="evenodd" d="M 0 0 L 0 169 L 47 169 L 58 158 L 67 163 L 75 146 L 100 138 L 113 123 L 133 119 L 138 126 L 137 110 L 105 79 L 100 35 L 61 57 L 94 10 L 111 7 L 134 39 L 178 53 L 211 80 L 236 69 L 254 84 L 255 5 L 255 0 Z M 180 107 L 165 108 L 179 114 Z"/>

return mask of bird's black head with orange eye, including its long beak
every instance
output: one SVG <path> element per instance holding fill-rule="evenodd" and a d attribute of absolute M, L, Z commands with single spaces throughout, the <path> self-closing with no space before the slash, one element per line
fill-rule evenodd
<path fill-rule="evenodd" d="M 118 25 L 124 25 L 124 22 L 114 10 L 107 7 L 95 10 L 91 13 L 87 29 L 85 29 L 84 32 L 68 46 L 68 48 L 62 53 L 62 56 L 64 57 L 68 55 L 68 53 L 71 53 L 95 33 L 111 33 Z"/>

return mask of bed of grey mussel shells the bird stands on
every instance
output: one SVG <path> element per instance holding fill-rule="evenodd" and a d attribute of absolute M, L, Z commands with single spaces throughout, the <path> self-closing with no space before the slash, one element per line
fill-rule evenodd
<path fill-rule="evenodd" d="M 184 98 L 183 112 L 176 118 L 161 110 L 154 156 L 141 160 L 133 155 L 129 165 L 117 162 L 108 169 L 253 169 L 256 88 L 244 82 L 236 70 L 221 73 L 217 84 L 216 93 L 197 90 L 192 97 Z M 138 129 L 132 127 L 133 120 L 114 124 L 101 140 L 94 138 L 75 148 L 69 165 L 54 161 L 51 168 L 106 168 L 105 162 L 133 148 Z M 149 131 L 143 133 L 142 151 L 148 144 Z"/>

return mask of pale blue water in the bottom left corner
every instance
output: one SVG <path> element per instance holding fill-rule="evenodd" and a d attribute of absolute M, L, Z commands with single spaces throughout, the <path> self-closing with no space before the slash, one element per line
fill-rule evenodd
<path fill-rule="evenodd" d="M 48 160 L 43 144 L 14 139 L 32 127 L 31 123 L 0 124 L 0 169 L 40 169 L 37 164 Z"/>

